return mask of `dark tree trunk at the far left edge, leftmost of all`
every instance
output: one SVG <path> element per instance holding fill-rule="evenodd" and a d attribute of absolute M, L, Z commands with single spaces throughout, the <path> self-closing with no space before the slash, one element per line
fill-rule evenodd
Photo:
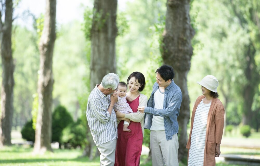
<path fill-rule="evenodd" d="M 3 9 L 3 8 L 2 8 Z M 2 57 L 2 87 L 1 87 L 1 120 L 0 146 L 11 145 L 12 118 L 14 112 L 14 62 L 12 57 L 12 0 L 5 1 L 5 19 L 2 23 L 0 10 L 0 40 Z"/>

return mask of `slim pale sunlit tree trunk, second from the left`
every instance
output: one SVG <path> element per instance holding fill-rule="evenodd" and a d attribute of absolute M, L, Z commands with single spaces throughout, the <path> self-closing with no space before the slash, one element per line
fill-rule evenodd
<path fill-rule="evenodd" d="M 51 143 L 51 113 L 53 73 L 52 59 L 56 39 L 56 0 L 46 0 L 44 27 L 39 43 L 40 74 L 38 79 L 39 106 L 35 130 L 34 151 L 44 153 L 52 150 Z"/>

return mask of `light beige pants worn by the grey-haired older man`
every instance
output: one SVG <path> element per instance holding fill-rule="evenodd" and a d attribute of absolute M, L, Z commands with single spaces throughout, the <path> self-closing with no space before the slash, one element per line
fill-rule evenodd
<path fill-rule="evenodd" d="M 109 141 L 97 146 L 100 151 L 100 166 L 114 166 L 116 140 Z"/>

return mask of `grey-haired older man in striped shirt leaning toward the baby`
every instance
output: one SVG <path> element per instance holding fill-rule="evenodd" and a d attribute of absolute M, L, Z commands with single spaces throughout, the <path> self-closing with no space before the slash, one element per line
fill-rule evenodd
<path fill-rule="evenodd" d="M 87 120 L 93 140 L 101 153 L 100 165 L 114 166 L 115 163 L 117 125 L 113 107 L 117 101 L 115 90 L 118 83 L 118 75 L 109 73 L 88 97 Z"/>

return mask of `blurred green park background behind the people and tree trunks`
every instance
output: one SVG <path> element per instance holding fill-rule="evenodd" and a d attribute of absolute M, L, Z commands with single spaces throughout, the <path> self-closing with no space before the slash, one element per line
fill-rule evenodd
<path fill-rule="evenodd" d="M 2 13 L 4 2 L 1 1 Z M 57 1 L 51 111 L 52 135 L 57 136 L 52 137 L 52 140 L 59 142 L 59 149 L 53 147 L 53 152 L 42 154 L 33 154 L 33 143 L 30 141 L 34 141 L 39 107 L 38 45 L 44 24 L 45 1 L 13 2 L 11 41 L 15 84 L 12 146 L 1 147 L 1 165 L 99 165 L 99 154 L 91 142 L 85 113 L 88 94 L 92 90 L 90 59 L 94 1 Z M 260 2 L 185 2 L 189 4 L 190 25 L 194 32 L 194 37 L 191 34 L 187 39 L 191 40 L 193 47 L 190 64 L 184 63 L 188 68 L 190 65 L 187 75 L 184 74 L 190 100 L 189 112 L 196 98 L 201 95 L 200 86 L 196 82 L 207 74 L 217 77 L 219 99 L 225 107 L 226 125 L 220 157 L 231 155 L 235 160 L 238 160 L 236 157 L 244 157 L 243 161 L 247 162 L 235 164 L 250 165 L 249 158 L 257 161 L 260 157 Z M 166 0 L 118 1 L 114 61 L 116 73 L 121 81 L 126 81 L 130 73 L 142 72 L 146 78 L 143 93 L 147 97 L 155 82 L 155 70 L 165 63 L 161 56 L 165 53 L 161 49 L 167 3 Z M 1 19 L 4 20 L 4 15 Z M 1 66 L 3 68 L 2 62 Z M 173 65 L 177 71 L 178 67 Z M 188 133 L 190 121 L 184 125 Z M 22 129 L 24 139 L 20 134 Z M 182 138 L 179 140 L 185 141 Z M 143 149 L 147 147 L 148 130 Z M 180 148 L 185 151 L 183 146 Z M 185 158 L 185 155 L 180 158 L 183 165 L 186 164 Z M 140 165 L 151 165 L 149 153 L 143 153 Z M 217 165 L 232 163 L 220 160 Z"/>

